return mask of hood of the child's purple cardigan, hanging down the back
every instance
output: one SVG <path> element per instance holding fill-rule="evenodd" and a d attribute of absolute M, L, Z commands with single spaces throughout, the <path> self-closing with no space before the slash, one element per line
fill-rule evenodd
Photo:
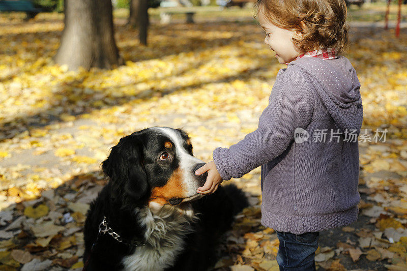
<path fill-rule="evenodd" d="M 299 66 L 313 80 L 318 95 L 334 120 L 336 128 L 360 133 L 363 107 L 360 82 L 350 61 L 343 56 L 324 60 L 317 57 L 302 57 L 290 63 Z"/>

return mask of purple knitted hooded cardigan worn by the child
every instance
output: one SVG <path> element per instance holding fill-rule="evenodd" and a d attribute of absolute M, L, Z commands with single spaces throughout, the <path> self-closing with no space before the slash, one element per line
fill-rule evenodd
<path fill-rule="evenodd" d="M 299 58 L 278 72 L 257 130 L 229 148 L 214 150 L 224 180 L 261 165 L 261 224 L 301 234 L 357 219 L 357 135 L 363 119 L 359 88 L 346 57 Z M 325 142 L 317 136 L 324 133 Z M 348 136 L 352 133 L 356 140 Z M 300 134 L 304 142 L 295 139 Z"/>

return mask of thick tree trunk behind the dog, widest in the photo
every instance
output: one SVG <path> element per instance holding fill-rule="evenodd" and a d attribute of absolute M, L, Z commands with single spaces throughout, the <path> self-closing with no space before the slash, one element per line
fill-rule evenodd
<path fill-rule="evenodd" d="M 114 41 L 111 0 L 65 0 L 64 31 L 54 62 L 112 69 L 124 64 Z"/>

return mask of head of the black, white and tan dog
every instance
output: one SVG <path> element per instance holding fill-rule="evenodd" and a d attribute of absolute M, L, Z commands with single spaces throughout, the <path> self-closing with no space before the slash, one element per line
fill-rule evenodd
<path fill-rule="evenodd" d="M 155 206 L 178 205 L 201 198 L 196 192 L 207 174 L 195 175 L 204 163 L 193 156 L 181 129 L 153 127 L 120 139 L 102 169 L 113 198 L 130 197 Z"/>

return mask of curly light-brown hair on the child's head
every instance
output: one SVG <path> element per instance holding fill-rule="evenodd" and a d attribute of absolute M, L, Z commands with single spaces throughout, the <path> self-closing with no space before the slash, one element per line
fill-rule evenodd
<path fill-rule="evenodd" d="M 344 0 L 257 0 L 256 14 L 272 24 L 302 33 L 293 42 L 301 52 L 335 48 L 342 54 L 348 48 L 347 8 Z"/>

